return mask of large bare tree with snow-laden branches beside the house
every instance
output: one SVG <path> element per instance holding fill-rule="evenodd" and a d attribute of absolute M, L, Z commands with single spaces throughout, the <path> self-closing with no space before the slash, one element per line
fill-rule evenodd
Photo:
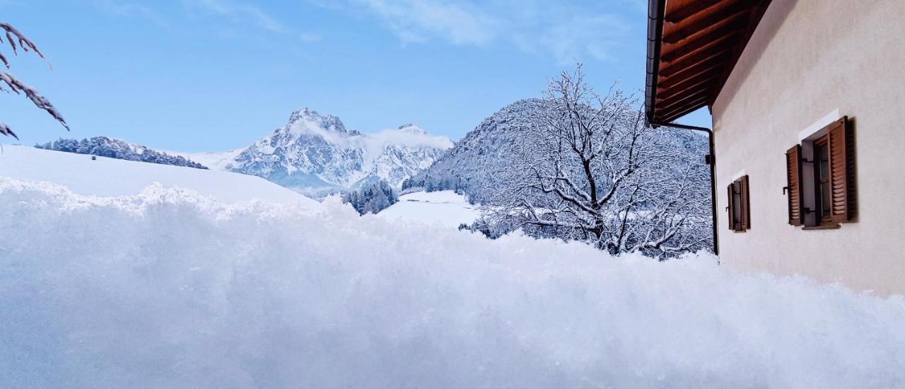
<path fill-rule="evenodd" d="M 707 247 L 710 198 L 700 154 L 647 127 L 632 96 L 595 94 L 581 65 L 550 81 L 545 100 L 513 162 L 497 172 L 481 223 L 612 253 L 670 256 Z"/>

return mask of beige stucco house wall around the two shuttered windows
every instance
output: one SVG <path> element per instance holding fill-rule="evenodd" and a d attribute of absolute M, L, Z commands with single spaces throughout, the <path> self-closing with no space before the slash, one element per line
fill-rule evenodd
<path fill-rule="evenodd" d="M 858 218 L 786 223 L 786 149 L 834 109 L 853 119 Z M 905 1 L 774 0 L 713 105 L 720 260 L 730 268 L 905 294 Z M 748 232 L 726 185 L 750 177 Z"/>

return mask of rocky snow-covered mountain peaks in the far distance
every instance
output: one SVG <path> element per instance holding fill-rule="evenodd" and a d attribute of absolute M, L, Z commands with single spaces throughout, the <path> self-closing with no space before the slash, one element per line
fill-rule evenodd
<path fill-rule="evenodd" d="M 449 138 L 433 137 L 414 124 L 366 134 L 306 108 L 249 147 L 180 154 L 213 169 L 261 176 L 321 197 L 380 180 L 398 188 L 452 146 Z"/>

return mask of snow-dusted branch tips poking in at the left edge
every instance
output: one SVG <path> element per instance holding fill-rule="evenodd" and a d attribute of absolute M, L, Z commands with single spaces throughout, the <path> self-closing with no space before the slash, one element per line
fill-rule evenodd
<path fill-rule="evenodd" d="M 22 49 L 23 52 L 34 52 L 46 61 L 44 54 L 40 50 L 38 50 L 38 46 L 36 46 L 31 40 L 29 40 L 24 35 L 24 33 L 21 33 L 10 24 L 0 23 L 0 28 L 4 30 L 6 35 L 6 42 L 8 42 L 10 47 L 12 47 L 13 53 L 15 55 L 18 55 L 19 49 Z M 0 43 L 3 43 L 2 36 L 0 36 Z M 3 52 L 0 52 L 0 62 L 4 63 L 6 69 L 10 68 L 9 61 L 6 59 L 6 56 Z M 50 63 L 48 63 L 48 66 L 50 66 Z M 65 127 L 67 130 L 69 129 L 69 125 L 66 124 L 66 120 L 62 119 L 60 111 L 53 107 L 53 104 L 51 104 L 50 100 L 47 100 L 47 98 L 43 97 L 43 95 L 39 93 L 38 90 L 35 90 L 22 81 L 19 81 L 15 78 L 14 75 L 10 74 L 7 71 L 0 71 L 0 90 L 3 90 L 5 92 L 12 90 L 16 94 L 24 93 L 25 97 L 27 97 L 29 100 L 32 100 L 34 105 L 36 105 L 40 109 L 46 110 L 47 113 L 51 114 L 53 119 L 57 119 L 57 121 L 59 121 L 63 125 L 63 127 Z M 19 138 L 4 122 L 0 122 L 0 134 L 16 139 Z"/>

